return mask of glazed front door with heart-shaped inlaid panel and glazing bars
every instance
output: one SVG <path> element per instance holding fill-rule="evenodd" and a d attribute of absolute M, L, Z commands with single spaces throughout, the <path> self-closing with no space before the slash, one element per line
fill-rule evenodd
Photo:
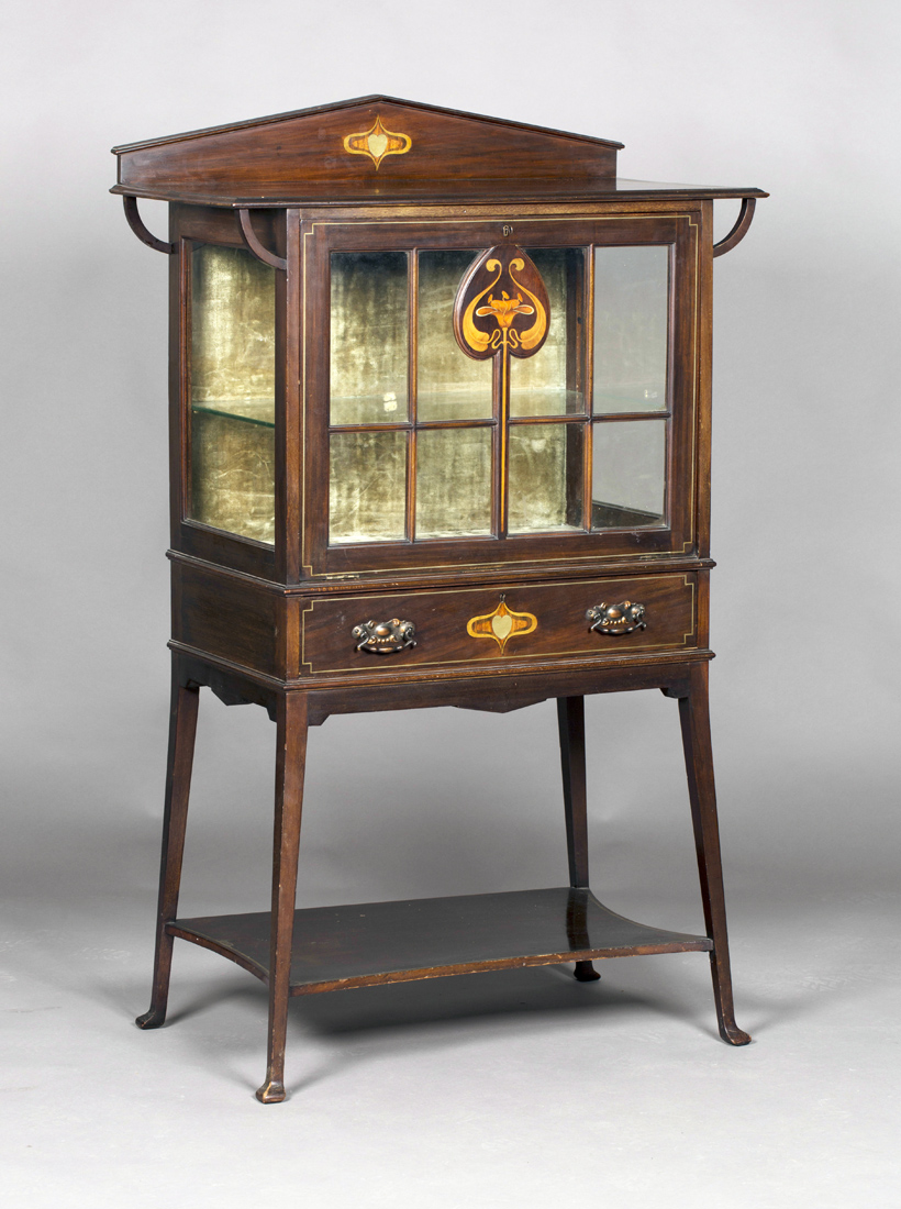
<path fill-rule="evenodd" d="M 698 230 L 311 224 L 307 573 L 691 549 Z"/>

